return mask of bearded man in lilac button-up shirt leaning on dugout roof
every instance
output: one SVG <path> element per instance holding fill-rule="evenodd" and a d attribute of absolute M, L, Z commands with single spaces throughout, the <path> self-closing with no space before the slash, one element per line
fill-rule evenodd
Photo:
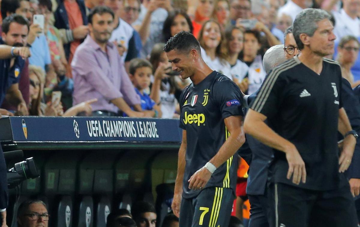
<path fill-rule="evenodd" d="M 89 16 L 90 34 L 77 47 L 72 66 L 73 105 L 97 98 L 92 104 L 93 116 L 145 117 L 116 46 L 109 42 L 114 12 L 107 6 L 96 6 Z M 134 110 L 130 108 L 132 106 Z M 150 114 L 151 113 L 151 114 Z"/>

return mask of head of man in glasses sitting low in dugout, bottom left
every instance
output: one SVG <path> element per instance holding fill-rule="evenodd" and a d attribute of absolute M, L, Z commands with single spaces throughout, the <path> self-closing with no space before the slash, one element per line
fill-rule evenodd
<path fill-rule="evenodd" d="M 18 209 L 19 227 L 48 227 L 49 213 L 46 204 L 41 200 L 27 200 Z"/>

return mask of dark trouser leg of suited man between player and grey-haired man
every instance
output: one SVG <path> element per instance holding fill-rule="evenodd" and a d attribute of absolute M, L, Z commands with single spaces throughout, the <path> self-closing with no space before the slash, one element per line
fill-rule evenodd
<path fill-rule="evenodd" d="M 248 195 L 250 202 L 249 227 L 269 227 L 267 221 L 267 210 L 269 203 L 264 195 Z"/>

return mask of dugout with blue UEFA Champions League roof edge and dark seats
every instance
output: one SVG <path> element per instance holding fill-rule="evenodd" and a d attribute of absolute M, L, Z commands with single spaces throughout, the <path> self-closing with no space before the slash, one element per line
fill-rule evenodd
<path fill-rule="evenodd" d="M 18 205 L 41 199 L 49 226 L 105 227 L 112 208 L 136 200 L 156 203 L 160 226 L 171 203 L 182 132 L 177 119 L 117 117 L 5 117 L 0 119 L 8 168 L 34 157 L 39 178 L 9 191 L 8 225 Z"/>

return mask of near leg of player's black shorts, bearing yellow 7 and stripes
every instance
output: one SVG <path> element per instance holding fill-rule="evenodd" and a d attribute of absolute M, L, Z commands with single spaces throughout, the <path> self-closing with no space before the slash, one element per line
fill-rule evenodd
<path fill-rule="evenodd" d="M 233 201 L 233 191 L 229 188 L 210 187 L 202 190 L 193 200 L 192 227 L 228 226 Z"/>

